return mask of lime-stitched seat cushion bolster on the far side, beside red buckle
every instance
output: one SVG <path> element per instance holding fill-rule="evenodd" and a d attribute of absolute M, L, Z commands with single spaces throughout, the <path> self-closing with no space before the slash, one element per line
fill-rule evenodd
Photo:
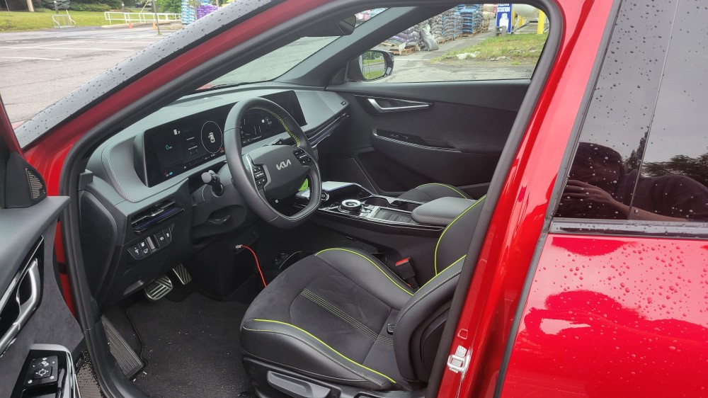
<path fill-rule="evenodd" d="M 315 254 L 393 309 L 401 309 L 413 290 L 377 258 L 355 249 L 326 249 Z"/>

